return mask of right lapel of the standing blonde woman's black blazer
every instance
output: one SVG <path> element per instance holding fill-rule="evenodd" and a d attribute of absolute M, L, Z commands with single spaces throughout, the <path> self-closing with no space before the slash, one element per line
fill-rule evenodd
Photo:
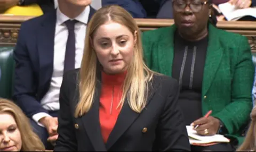
<path fill-rule="evenodd" d="M 152 85 L 155 86 L 155 85 Z M 156 86 L 157 87 L 157 86 Z M 154 96 L 155 90 L 153 88 L 149 89 L 147 104 L 149 104 L 151 98 Z M 144 110 L 143 110 L 144 111 Z M 143 112 L 142 111 L 142 112 Z M 109 135 L 109 138 L 106 143 L 106 149 L 109 150 L 111 146 L 122 136 L 122 134 L 132 125 L 132 123 L 137 119 L 139 113 L 132 111 L 129 104 L 127 103 L 127 99 L 125 100 L 125 104 L 123 105 L 120 114 L 118 115 L 118 119 L 116 124 Z"/>

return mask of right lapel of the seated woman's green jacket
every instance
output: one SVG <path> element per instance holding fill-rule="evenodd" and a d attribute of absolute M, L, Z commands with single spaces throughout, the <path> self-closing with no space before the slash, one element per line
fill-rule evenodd
<path fill-rule="evenodd" d="M 217 72 L 221 58 L 223 55 L 223 50 L 220 47 L 218 29 L 209 24 L 209 44 L 207 47 L 207 54 L 204 66 L 204 77 L 202 86 L 202 98 L 205 96 L 207 90 L 209 90 L 215 73 Z"/>

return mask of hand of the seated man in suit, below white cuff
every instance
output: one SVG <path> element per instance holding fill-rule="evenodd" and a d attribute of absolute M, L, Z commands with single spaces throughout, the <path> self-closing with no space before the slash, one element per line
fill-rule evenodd
<path fill-rule="evenodd" d="M 49 138 L 47 139 L 50 142 L 54 142 L 58 138 L 57 128 L 58 128 L 58 118 L 46 116 L 39 120 L 49 133 Z"/>

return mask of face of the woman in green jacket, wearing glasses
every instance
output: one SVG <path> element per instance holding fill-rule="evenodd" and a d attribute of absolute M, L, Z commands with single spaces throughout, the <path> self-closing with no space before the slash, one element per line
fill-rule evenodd
<path fill-rule="evenodd" d="M 173 16 L 179 32 L 187 36 L 197 35 L 207 29 L 210 7 L 206 0 L 175 0 Z M 190 4 L 190 7 L 186 4 Z M 186 6 L 183 8 L 183 6 Z"/>

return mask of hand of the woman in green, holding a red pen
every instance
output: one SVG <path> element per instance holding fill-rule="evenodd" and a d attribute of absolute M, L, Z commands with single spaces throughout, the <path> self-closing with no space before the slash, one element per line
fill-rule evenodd
<path fill-rule="evenodd" d="M 219 130 L 220 120 L 213 116 L 209 116 L 207 118 L 201 117 L 200 119 L 191 123 L 192 126 L 196 126 L 197 124 L 199 124 L 198 128 L 196 129 L 198 134 L 201 134 L 202 136 L 213 136 L 214 134 L 217 134 Z"/>

